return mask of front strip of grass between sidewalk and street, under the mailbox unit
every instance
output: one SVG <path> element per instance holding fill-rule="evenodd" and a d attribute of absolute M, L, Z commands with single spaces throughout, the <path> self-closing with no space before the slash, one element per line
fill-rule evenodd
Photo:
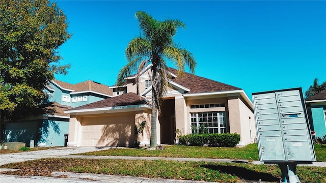
<path fill-rule="evenodd" d="M 248 163 L 180 162 L 164 160 L 111 160 L 111 159 L 58 159 L 48 158 L 11 163 L 1 168 L 18 168 L 19 175 L 50 176 L 52 171 L 128 175 L 148 178 L 239 182 L 259 180 L 278 182 L 281 171 L 278 166 Z M 18 172 L 19 172 L 18 171 Z M 32 174 L 31 174 L 32 172 Z M 35 173 L 35 174 L 33 174 Z M 6 172 L 15 174 L 17 172 Z M 325 182 L 325 167 L 297 167 L 301 182 Z"/>

